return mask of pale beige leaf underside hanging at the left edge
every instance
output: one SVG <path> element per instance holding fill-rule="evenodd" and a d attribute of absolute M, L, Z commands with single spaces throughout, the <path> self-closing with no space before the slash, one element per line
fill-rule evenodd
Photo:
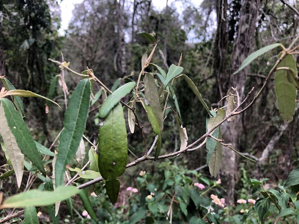
<path fill-rule="evenodd" d="M 18 188 L 20 188 L 24 173 L 24 155 L 16 142 L 15 136 L 10 131 L 2 104 L 0 105 L 0 133 L 6 147 L 6 153 L 16 174 Z"/>

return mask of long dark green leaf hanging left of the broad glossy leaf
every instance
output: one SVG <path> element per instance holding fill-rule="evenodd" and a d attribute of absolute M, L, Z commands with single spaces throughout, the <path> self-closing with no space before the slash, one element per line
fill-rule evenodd
<path fill-rule="evenodd" d="M 55 182 L 60 186 L 64 182 L 66 165 L 73 161 L 85 130 L 90 105 L 90 82 L 83 79 L 75 88 L 63 121 L 64 129 L 60 135 L 60 144 L 55 164 Z"/>

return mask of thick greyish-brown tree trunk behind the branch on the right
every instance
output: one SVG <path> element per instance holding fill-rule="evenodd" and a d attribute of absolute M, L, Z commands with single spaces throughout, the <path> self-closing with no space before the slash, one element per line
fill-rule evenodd
<path fill-rule="evenodd" d="M 245 79 L 248 74 L 248 67 L 236 75 L 236 71 L 244 59 L 253 50 L 252 42 L 254 39 L 255 24 L 260 7 L 260 0 L 244 0 L 241 7 L 241 17 L 239 19 L 238 34 L 234 41 L 231 53 L 231 70 L 228 87 L 237 87 L 240 99 L 244 99 Z M 239 151 L 239 139 L 243 134 L 241 116 L 236 116 L 232 122 L 223 125 L 225 142 L 231 143 L 232 147 Z M 228 203 L 234 202 L 235 175 L 236 175 L 236 154 L 229 148 L 224 148 L 222 157 L 222 179 L 224 187 L 227 189 Z"/>

